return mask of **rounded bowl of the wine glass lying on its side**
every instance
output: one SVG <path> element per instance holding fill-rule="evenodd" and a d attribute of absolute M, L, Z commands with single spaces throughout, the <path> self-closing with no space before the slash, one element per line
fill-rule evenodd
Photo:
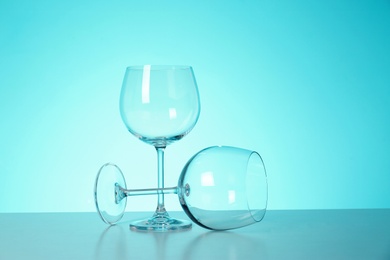
<path fill-rule="evenodd" d="M 259 222 L 267 208 L 267 177 L 256 152 L 226 146 L 204 149 L 180 175 L 179 200 L 198 225 L 226 230 Z"/>

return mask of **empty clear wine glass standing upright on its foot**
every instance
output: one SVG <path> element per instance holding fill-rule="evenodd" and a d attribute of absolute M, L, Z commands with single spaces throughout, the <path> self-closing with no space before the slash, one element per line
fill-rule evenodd
<path fill-rule="evenodd" d="M 157 186 L 164 189 L 164 150 L 186 136 L 200 113 L 199 93 L 190 66 L 144 65 L 126 69 L 120 114 L 130 133 L 157 151 Z M 191 222 L 171 218 L 158 193 L 152 217 L 131 223 L 135 230 L 178 230 Z"/>

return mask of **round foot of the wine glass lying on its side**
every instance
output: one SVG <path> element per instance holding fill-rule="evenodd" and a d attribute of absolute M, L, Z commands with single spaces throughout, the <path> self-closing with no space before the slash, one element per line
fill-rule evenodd
<path fill-rule="evenodd" d="M 101 219 L 107 224 L 118 222 L 125 213 L 127 197 L 121 192 L 126 189 L 125 178 L 118 166 L 103 165 L 95 181 L 95 205 Z"/>

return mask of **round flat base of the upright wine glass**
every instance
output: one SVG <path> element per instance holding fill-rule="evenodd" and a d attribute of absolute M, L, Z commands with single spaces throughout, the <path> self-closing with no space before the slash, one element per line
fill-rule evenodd
<path fill-rule="evenodd" d="M 144 232 L 186 231 L 191 229 L 191 227 L 192 222 L 171 218 L 169 216 L 153 216 L 130 223 L 131 230 Z"/>

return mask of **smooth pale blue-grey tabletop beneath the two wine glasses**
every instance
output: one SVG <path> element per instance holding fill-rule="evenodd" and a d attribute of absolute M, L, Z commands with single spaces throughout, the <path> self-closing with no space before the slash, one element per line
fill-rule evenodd
<path fill-rule="evenodd" d="M 0 259 L 390 259 L 390 209 L 268 211 L 225 232 L 129 230 L 149 215 L 110 227 L 97 213 L 2 213 Z"/>

